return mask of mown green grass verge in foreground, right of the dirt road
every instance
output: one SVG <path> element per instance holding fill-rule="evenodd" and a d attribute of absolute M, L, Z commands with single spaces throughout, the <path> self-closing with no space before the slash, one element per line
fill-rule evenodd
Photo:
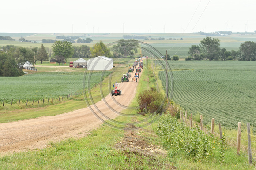
<path fill-rule="evenodd" d="M 144 69 L 139 81 L 137 92 L 151 87 L 145 83 L 149 78 Z M 136 102 L 133 101 L 134 105 Z M 124 113 L 130 113 L 125 110 Z M 134 112 L 134 111 L 132 111 Z M 134 119 L 134 118 L 132 118 Z M 119 116 L 117 121 L 131 122 L 131 117 Z M 143 116 L 135 119 L 143 119 Z M 226 162 L 219 163 L 218 158 L 197 162 L 190 159 L 184 152 L 169 150 L 167 154 L 154 152 L 152 155 L 132 150 L 132 142 L 138 141 L 148 146 L 162 148 L 162 141 L 155 135 L 156 123 L 144 129 L 124 131 L 103 124 L 92 130 L 87 137 L 69 138 L 65 141 L 49 142 L 49 148 L 14 153 L 0 157 L 0 169 L 254 169 L 248 166 L 248 158 L 234 154 L 234 148 L 226 152 Z M 86 132 L 81 132 L 82 134 Z M 128 135 L 128 134 L 131 135 Z M 129 145 L 122 148 L 122 143 Z M 118 147 L 119 146 L 119 147 Z"/>

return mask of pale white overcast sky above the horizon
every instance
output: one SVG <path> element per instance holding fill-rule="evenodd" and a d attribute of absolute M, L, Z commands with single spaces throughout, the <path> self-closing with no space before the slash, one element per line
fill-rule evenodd
<path fill-rule="evenodd" d="M 4 0 L 0 6 L 0 33 L 256 30 L 256 0 Z"/>

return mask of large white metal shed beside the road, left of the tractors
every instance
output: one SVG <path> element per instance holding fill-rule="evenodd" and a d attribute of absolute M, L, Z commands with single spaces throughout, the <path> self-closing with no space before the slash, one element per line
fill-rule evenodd
<path fill-rule="evenodd" d="M 87 60 L 87 70 L 96 71 L 96 70 L 110 70 L 113 68 L 114 60 L 106 56 L 98 56 Z"/>

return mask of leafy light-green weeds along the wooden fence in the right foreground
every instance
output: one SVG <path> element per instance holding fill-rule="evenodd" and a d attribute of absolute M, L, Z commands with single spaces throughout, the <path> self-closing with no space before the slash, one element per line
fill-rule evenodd
<path fill-rule="evenodd" d="M 159 119 L 156 133 L 167 148 L 184 151 L 197 161 L 208 159 L 217 153 L 214 150 L 218 147 L 221 150 L 219 161 L 224 162 L 225 140 L 217 141 L 213 135 L 205 134 L 198 126 L 189 128 L 185 123 L 179 123 L 173 116 L 164 115 Z"/>

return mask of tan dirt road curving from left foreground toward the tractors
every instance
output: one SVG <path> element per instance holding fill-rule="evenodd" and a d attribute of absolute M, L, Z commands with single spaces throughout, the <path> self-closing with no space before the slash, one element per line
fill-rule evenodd
<path fill-rule="evenodd" d="M 134 72 L 131 75 L 134 76 Z M 120 83 L 118 89 L 122 90 L 121 96 L 108 94 L 105 97 L 105 101 L 117 112 L 123 110 L 124 107 L 117 105 L 116 102 L 128 106 L 135 96 L 138 83 L 131 82 L 131 78 L 129 80 L 129 82 Z M 96 105 L 109 118 L 118 116 L 105 105 L 103 100 Z M 96 111 L 94 106 L 92 108 Z M 68 137 L 87 136 L 90 130 L 100 124 L 102 121 L 94 116 L 88 107 L 56 116 L 0 123 L 0 155 L 45 148 L 50 141 L 61 141 Z"/>

